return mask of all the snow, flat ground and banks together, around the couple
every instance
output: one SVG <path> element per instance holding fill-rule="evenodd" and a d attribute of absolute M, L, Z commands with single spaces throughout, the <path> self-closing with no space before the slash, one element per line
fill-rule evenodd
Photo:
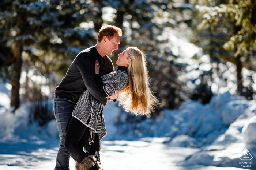
<path fill-rule="evenodd" d="M 0 79 L 0 169 L 54 169 L 59 148 L 56 120 L 42 127 L 29 123 L 32 104 L 22 104 L 13 114 L 9 103 L 10 84 Z M 101 163 L 105 170 L 256 167 L 255 100 L 226 92 L 206 105 L 187 101 L 179 110 L 163 110 L 161 116 L 140 123 L 126 122 L 128 115 L 114 102 L 104 107 L 108 134 L 101 142 Z M 245 147 L 249 152 L 243 152 Z M 250 154 L 250 161 L 241 161 L 241 156 Z M 71 158 L 71 170 L 74 164 Z"/>

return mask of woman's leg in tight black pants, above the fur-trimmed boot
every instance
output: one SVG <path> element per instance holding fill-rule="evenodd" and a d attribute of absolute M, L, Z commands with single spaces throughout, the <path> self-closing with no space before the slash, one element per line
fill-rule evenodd
<path fill-rule="evenodd" d="M 87 126 L 78 119 L 71 118 L 65 138 L 65 149 L 78 163 L 82 162 L 83 158 L 87 156 L 83 151 L 83 146 L 88 132 Z"/>

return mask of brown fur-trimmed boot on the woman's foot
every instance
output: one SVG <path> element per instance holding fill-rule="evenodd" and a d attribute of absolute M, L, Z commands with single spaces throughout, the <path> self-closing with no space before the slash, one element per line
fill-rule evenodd
<path fill-rule="evenodd" d="M 92 155 L 85 157 L 81 163 L 76 162 L 75 167 L 76 170 L 103 170 L 99 161 Z"/>

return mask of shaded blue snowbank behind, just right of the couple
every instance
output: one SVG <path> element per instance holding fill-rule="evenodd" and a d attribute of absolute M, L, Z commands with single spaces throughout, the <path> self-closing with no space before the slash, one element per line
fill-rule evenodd
<path fill-rule="evenodd" d="M 137 137 L 173 138 L 177 135 L 189 135 L 198 141 L 197 146 L 202 146 L 212 143 L 225 133 L 227 127 L 242 115 L 249 105 L 251 106 L 250 102 L 244 97 L 233 96 L 226 92 L 214 95 L 210 103 L 205 105 L 191 100 L 182 103 L 178 110 L 163 110 L 162 115 L 157 118 L 146 118 L 132 123 L 121 121 L 118 129 L 121 134 Z M 126 116 L 128 117 L 129 114 Z M 244 124 L 242 123 L 241 126 Z M 228 130 L 227 133 L 234 131 Z M 219 140 L 223 141 L 223 139 Z"/>

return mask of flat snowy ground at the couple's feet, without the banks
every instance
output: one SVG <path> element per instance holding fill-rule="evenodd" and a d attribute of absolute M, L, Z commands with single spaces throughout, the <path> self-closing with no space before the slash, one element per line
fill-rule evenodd
<path fill-rule="evenodd" d="M 140 141 L 102 141 L 101 164 L 105 170 L 239 170 L 215 166 L 182 165 L 182 161 L 200 149 L 172 147 L 163 144 L 164 138 L 148 138 Z M 45 143 L 1 143 L 13 151 L 0 154 L 0 169 L 53 169 L 57 155 L 57 139 L 44 140 Z M 56 142 L 56 143 L 55 143 Z M 55 144 L 54 144 L 55 143 Z M 69 165 L 75 170 L 75 161 Z"/>

